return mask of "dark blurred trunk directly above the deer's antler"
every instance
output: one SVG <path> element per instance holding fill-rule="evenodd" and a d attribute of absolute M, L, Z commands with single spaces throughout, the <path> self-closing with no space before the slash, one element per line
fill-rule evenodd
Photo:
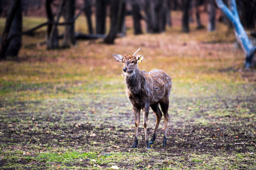
<path fill-rule="evenodd" d="M 142 34 L 140 20 L 142 18 L 140 14 L 139 2 L 137 0 L 132 1 L 132 16 L 133 16 L 133 26 L 134 34 Z"/>

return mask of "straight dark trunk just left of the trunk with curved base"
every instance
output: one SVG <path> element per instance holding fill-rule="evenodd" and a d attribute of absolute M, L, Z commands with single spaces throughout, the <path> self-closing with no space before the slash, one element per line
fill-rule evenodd
<path fill-rule="evenodd" d="M 106 33 L 107 0 L 96 0 L 96 34 Z"/>

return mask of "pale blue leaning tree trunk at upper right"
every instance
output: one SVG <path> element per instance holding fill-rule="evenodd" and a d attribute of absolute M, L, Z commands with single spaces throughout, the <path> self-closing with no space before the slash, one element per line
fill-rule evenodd
<path fill-rule="evenodd" d="M 230 0 L 230 9 L 224 4 L 222 0 L 215 1 L 220 10 L 226 15 L 226 17 L 229 18 L 229 21 L 231 21 L 232 25 L 234 26 L 236 38 L 246 54 L 246 68 L 252 67 L 254 65 L 253 56 L 256 51 L 256 46 L 254 47 L 252 42 L 250 42 L 245 29 L 240 22 L 236 0 Z"/>

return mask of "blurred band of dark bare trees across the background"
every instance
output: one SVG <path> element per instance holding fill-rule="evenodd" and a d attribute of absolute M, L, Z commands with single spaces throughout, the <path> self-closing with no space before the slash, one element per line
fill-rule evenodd
<path fill-rule="evenodd" d="M 223 3 L 222 0 L 216 2 Z M 237 8 L 236 13 L 241 18 L 241 27 L 249 30 L 247 34 L 255 44 L 256 1 L 224 0 L 223 4 L 230 7 L 233 14 L 234 8 Z M 216 8 L 215 0 L 1 0 L 0 15 L 7 19 L 4 29 L 4 24 L 1 24 L 3 34 L 0 59 L 17 56 L 22 45 L 22 35 L 35 36 L 36 31 L 42 27 L 46 27 L 46 41 L 38 44 L 46 44 L 46 49 L 68 48 L 75 45 L 78 39 L 102 38 L 104 43 L 113 44 L 116 38 L 126 36 L 128 29 L 133 29 L 133 33 L 138 35 L 163 33 L 166 27 L 176 26 L 172 11 L 182 11 L 180 23 L 184 33 L 190 32 L 189 25 L 193 22 L 196 23 L 196 29 L 215 31 L 217 20 L 228 25 L 229 29 L 234 27 L 235 34 L 241 34 L 238 31 L 241 28 L 237 28 L 239 26 L 232 22 L 239 18 L 230 18 L 224 9 L 223 14 L 216 11 Z M 201 16 L 204 13 L 208 14 L 208 21 L 203 25 Z M 82 22 L 85 23 L 83 30 L 86 31 L 77 32 L 75 25 L 81 14 L 85 17 Z M 45 17 L 47 21 L 24 30 L 23 16 Z M 132 18 L 130 26 L 126 22 L 128 16 Z M 107 26 L 108 24 L 110 26 Z M 60 31 L 61 29 L 63 31 Z M 246 45 L 243 45 L 244 43 Z M 246 53 L 250 50 L 254 53 L 255 49 L 245 49 L 244 46 L 250 46 L 248 43 L 242 40 L 240 45 Z M 249 64 L 253 65 L 252 61 Z"/>

